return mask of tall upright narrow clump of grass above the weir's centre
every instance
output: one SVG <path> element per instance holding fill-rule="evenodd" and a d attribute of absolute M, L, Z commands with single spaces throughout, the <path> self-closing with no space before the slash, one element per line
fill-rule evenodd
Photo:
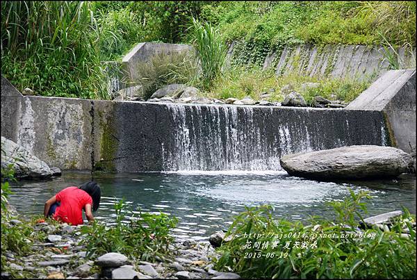
<path fill-rule="evenodd" d="M 202 88 L 210 88 L 214 79 L 220 75 L 226 60 L 227 46 L 218 29 L 209 22 L 199 22 L 193 18 L 193 45 L 197 49 L 201 65 L 200 81 Z"/>

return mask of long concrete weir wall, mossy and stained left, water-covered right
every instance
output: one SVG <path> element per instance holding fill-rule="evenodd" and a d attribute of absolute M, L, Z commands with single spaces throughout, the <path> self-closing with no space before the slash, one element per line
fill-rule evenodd
<path fill-rule="evenodd" d="M 391 145 L 380 110 L 24 97 L 1 84 L 1 135 L 63 170 L 280 170 L 284 154 Z"/>

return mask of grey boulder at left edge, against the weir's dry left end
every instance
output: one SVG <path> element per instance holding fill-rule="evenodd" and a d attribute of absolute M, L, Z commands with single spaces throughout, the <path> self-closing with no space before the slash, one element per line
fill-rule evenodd
<path fill-rule="evenodd" d="M 27 149 L 1 136 L 1 168 L 11 166 L 15 177 L 22 179 L 43 179 L 54 174 L 49 166 Z"/>

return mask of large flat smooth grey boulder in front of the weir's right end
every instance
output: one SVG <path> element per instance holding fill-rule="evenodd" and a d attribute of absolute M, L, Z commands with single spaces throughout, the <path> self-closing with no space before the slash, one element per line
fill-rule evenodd
<path fill-rule="evenodd" d="M 371 179 L 409 170 L 411 156 L 394 147 L 361 145 L 282 156 L 281 167 L 309 179 Z"/>

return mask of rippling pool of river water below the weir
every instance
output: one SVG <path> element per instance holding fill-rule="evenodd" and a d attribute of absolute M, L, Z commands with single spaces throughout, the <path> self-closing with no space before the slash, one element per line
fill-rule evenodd
<path fill-rule="evenodd" d="M 325 201 L 343 199 L 354 192 L 367 190 L 373 195 L 368 214 L 401 210 L 415 213 L 416 176 L 398 179 L 354 182 L 318 182 L 288 176 L 286 172 L 147 172 L 94 174 L 64 172 L 48 181 L 21 181 L 11 187 L 10 203 L 24 215 L 41 214 L 44 201 L 67 186 L 86 181 L 101 186 L 101 204 L 94 213 L 98 220 L 113 223 L 114 202 L 124 199 L 131 210 L 167 213 L 179 219 L 172 231 L 177 239 L 207 240 L 211 233 L 228 229 L 233 216 L 245 206 L 270 204 L 276 217 L 300 220 L 309 215 L 334 217 Z"/>

